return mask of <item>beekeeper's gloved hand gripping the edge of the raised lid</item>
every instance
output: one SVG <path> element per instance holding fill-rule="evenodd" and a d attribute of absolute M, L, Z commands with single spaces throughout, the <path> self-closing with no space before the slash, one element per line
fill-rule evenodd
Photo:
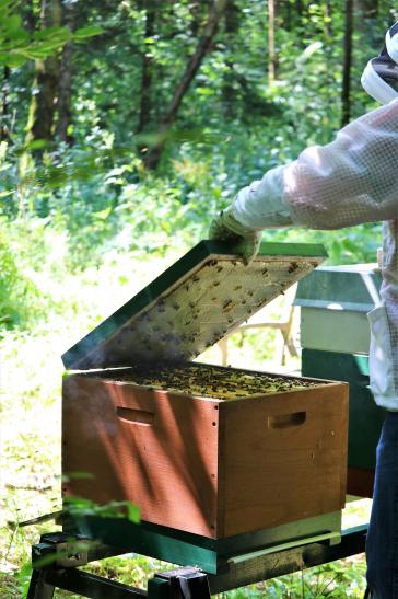
<path fill-rule="evenodd" d="M 257 255 L 261 243 L 261 231 L 249 229 L 242 224 L 232 214 L 232 207 L 222 210 L 210 224 L 209 239 L 241 242 L 241 253 L 245 264 L 249 264 Z"/>

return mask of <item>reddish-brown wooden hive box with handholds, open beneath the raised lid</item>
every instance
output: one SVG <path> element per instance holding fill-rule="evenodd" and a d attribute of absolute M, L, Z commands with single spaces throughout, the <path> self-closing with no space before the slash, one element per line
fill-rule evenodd
<path fill-rule="evenodd" d="M 210 538 L 343 507 L 348 385 L 220 400 L 114 376 L 65 380 L 62 470 L 83 474 L 66 495 L 130 500 L 144 521 Z"/>

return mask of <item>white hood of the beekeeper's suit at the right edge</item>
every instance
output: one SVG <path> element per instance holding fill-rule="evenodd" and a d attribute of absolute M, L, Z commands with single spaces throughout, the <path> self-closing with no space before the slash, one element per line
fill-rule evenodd
<path fill-rule="evenodd" d="M 363 89 L 382 104 L 398 97 L 398 22 L 386 33 L 386 44 L 363 71 Z"/>

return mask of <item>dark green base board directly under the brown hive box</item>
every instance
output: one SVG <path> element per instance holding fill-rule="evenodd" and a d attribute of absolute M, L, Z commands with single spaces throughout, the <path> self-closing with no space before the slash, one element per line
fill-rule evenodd
<path fill-rule="evenodd" d="M 63 532 L 84 534 L 124 550 L 120 553 L 139 553 L 183 566 L 197 566 L 209 574 L 220 574 L 227 569 L 227 561 L 237 554 L 321 535 L 325 540 L 330 539 L 330 543 L 339 542 L 341 511 L 224 539 L 210 539 L 150 522 L 134 525 L 125 518 L 95 516 L 68 518 L 63 522 Z"/>

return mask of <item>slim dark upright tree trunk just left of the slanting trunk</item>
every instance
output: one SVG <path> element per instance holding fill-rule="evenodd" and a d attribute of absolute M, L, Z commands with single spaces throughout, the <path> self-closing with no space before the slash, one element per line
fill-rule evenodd
<path fill-rule="evenodd" d="M 145 18 L 145 39 L 153 37 L 155 33 L 155 15 L 156 7 L 153 0 L 144 0 L 143 8 L 147 11 Z M 137 133 L 142 133 L 147 129 L 151 122 L 151 84 L 152 84 L 152 53 L 151 46 L 145 46 L 142 71 L 141 71 L 141 100 L 140 100 L 140 114 L 138 120 Z"/>

